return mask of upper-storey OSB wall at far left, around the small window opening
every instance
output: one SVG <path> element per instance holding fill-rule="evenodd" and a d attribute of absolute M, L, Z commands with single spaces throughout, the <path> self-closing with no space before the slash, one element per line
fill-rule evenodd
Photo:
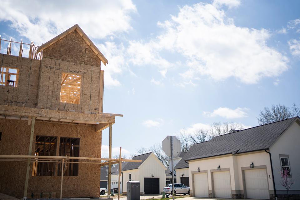
<path fill-rule="evenodd" d="M 34 108 L 37 102 L 37 85 L 40 60 L 0 54 L 2 67 L 19 69 L 17 87 L 0 86 L 0 104 Z"/>

